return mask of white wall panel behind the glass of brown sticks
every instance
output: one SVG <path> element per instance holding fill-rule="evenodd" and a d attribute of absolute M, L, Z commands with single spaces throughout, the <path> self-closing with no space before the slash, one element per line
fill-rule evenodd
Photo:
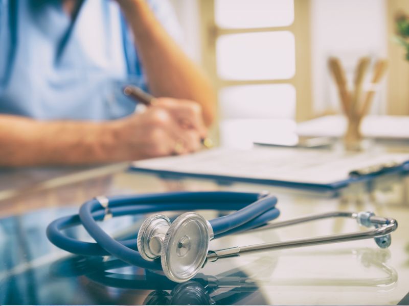
<path fill-rule="evenodd" d="M 386 0 L 387 1 L 387 0 Z M 312 0 L 312 77 L 314 110 L 338 108 L 336 89 L 329 77 L 327 59 L 337 56 L 350 79 L 359 57 L 387 54 L 385 0 Z M 374 101 L 372 113 L 384 113 L 385 86 Z"/>

